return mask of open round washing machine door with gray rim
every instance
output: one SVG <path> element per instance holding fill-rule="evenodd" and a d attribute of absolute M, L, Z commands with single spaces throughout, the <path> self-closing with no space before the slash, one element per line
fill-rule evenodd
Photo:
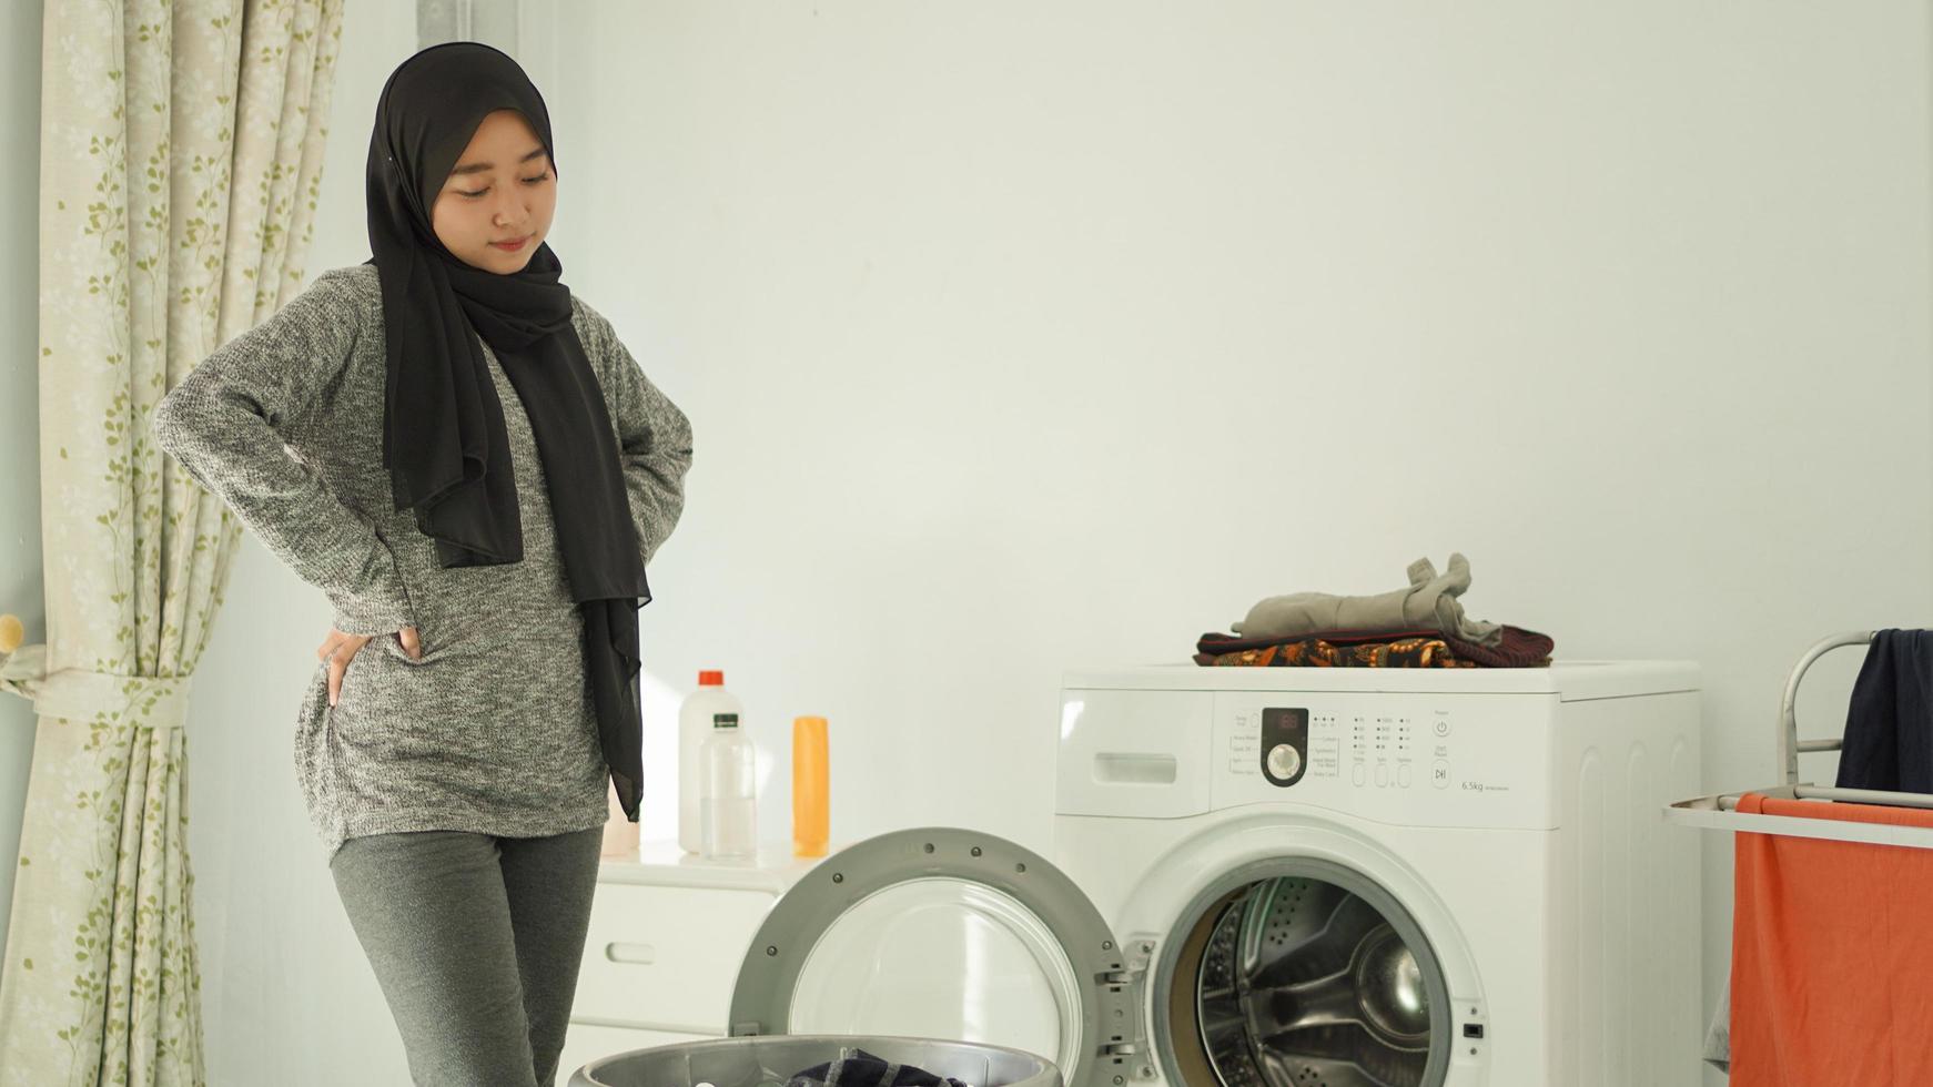
<path fill-rule="evenodd" d="M 897 1035 L 1038 1052 L 1113 1087 L 1146 1046 L 1142 973 L 1048 859 L 992 834 L 897 830 L 814 869 L 765 915 L 731 1033 Z"/>

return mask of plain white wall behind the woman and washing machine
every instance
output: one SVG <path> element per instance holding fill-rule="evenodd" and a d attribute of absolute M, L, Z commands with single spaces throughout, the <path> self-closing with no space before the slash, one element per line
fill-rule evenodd
<path fill-rule="evenodd" d="M 771 836 L 789 720 L 822 712 L 837 838 L 1046 850 L 1061 668 L 1185 660 L 1258 597 L 1452 548 L 1471 612 L 1560 656 L 1703 662 L 1711 788 L 1774 774 L 1817 635 L 1933 626 L 1918 6 L 564 10 L 555 77 L 530 58 L 553 247 L 696 429 L 642 614 L 649 749 L 725 668 Z M 23 147 L 39 31 L 8 17 Z M 350 4 L 311 274 L 367 257 L 369 118 L 412 50 L 406 6 Z M 0 334 L 31 359 L 6 193 Z M 10 548 L 39 523 L 21 369 Z M 0 610 L 39 616 L 37 566 L 0 564 Z M 249 537 L 191 738 L 216 1083 L 400 1066 L 290 765 L 327 622 Z M 1802 705 L 1825 730 L 1852 666 Z M 17 848 L 31 714 L 0 714 Z M 646 834 L 669 811 L 659 784 Z"/>

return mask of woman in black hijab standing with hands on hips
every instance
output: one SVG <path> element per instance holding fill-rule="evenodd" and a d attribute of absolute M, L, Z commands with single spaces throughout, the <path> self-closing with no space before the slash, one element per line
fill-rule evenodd
<path fill-rule="evenodd" d="M 373 257 L 153 423 L 336 606 L 296 768 L 416 1083 L 553 1081 L 607 795 L 638 819 L 644 566 L 692 458 L 559 282 L 553 151 L 503 52 L 406 60 L 369 139 Z"/>

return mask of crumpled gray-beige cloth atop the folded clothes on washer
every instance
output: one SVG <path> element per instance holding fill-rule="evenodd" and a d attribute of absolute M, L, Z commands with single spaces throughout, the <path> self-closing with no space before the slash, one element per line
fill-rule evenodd
<path fill-rule="evenodd" d="M 1469 589 L 1469 560 L 1450 552 L 1450 571 L 1438 575 L 1428 558 L 1409 564 L 1409 587 L 1376 597 L 1332 597 L 1328 593 L 1289 593 L 1249 608 L 1249 618 L 1233 624 L 1241 637 L 1303 637 L 1340 629 L 1434 629 L 1450 637 L 1494 647 L 1504 637 L 1502 624 L 1471 620 L 1457 597 Z"/>

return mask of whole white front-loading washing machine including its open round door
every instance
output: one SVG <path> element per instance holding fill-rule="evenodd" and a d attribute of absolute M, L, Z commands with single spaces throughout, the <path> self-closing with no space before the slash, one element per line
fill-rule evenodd
<path fill-rule="evenodd" d="M 835 851 L 719 942 L 723 1033 L 999 1045 L 1067 1087 L 1695 1083 L 1697 851 L 1659 813 L 1701 786 L 1697 682 L 1067 672 L 1050 855 Z"/>

